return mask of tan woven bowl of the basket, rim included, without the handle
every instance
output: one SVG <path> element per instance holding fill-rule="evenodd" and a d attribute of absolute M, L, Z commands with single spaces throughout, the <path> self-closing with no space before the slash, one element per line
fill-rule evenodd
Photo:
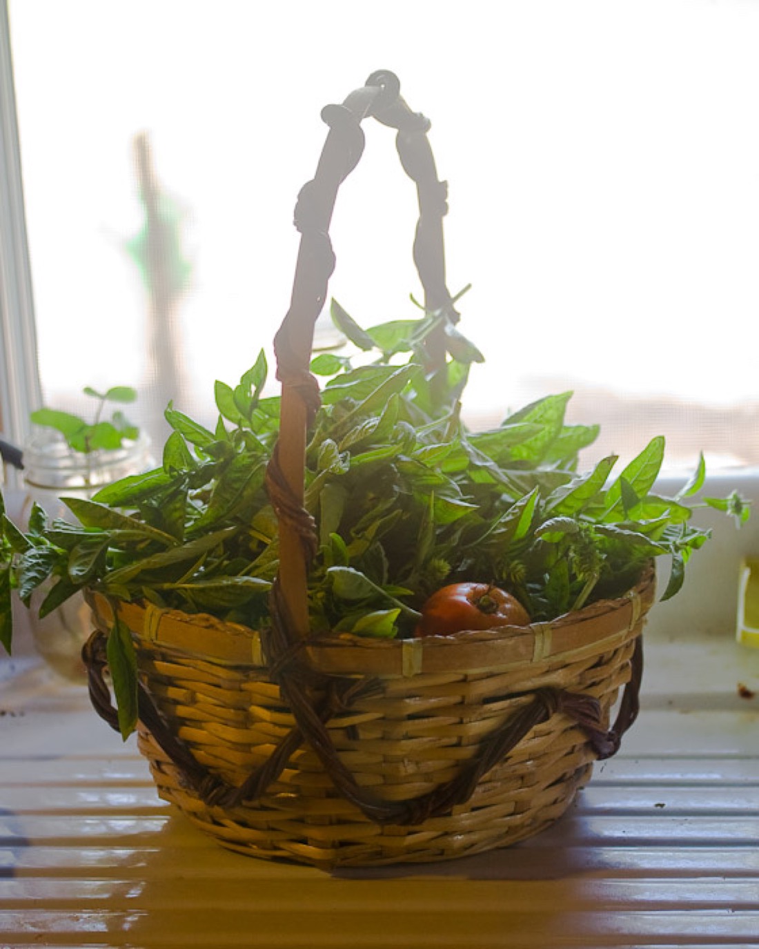
<path fill-rule="evenodd" d="M 335 787 L 271 681 L 260 636 L 242 626 L 120 605 L 145 683 L 139 747 L 162 797 L 225 847 L 261 857 L 381 865 L 504 847 L 560 817 L 592 762 L 617 750 L 637 711 L 640 631 L 653 596 L 649 575 L 620 600 L 554 623 L 402 642 L 343 635 L 306 643 L 298 661 L 325 682 L 351 677 L 361 690 L 368 680 L 368 694 L 343 696 L 342 708 L 339 697 L 324 699 L 324 688 L 320 699 L 332 713 L 326 730 L 368 801 L 400 805 L 399 823 L 372 819 Z M 105 634 L 111 607 L 102 597 L 92 605 Z M 621 720 L 607 734 L 609 710 L 631 675 Z M 103 714 L 116 726 L 108 706 L 105 696 Z M 509 754 L 505 745 L 513 746 Z M 272 774 L 272 754 L 282 748 L 281 771 Z M 251 774 L 262 784 L 272 779 L 260 796 Z M 235 800 L 246 782 L 250 802 Z M 441 788 L 456 803 L 406 824 Z"/>

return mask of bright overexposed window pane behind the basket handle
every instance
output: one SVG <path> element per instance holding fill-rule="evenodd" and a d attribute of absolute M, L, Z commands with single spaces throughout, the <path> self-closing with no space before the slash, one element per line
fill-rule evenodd
<path fill-rule="evenodd" d="M 210 419 L 213 381 L 236 381 L 287 310 L 322 107 L 388 67 L 450 182 L 450 286 L 472 283 L 462 329 L 487 358 L 470 423 L 571 388 L 571 419 L 602 422 L 598 456 L 662 432 L 675 466 L 701 447 L 712 466 L 759 464 L 755 5 L 388 0 L 360 22 L 347 0 L 213 15 L 10 0 L 9 15 L 47 402 L 134 384 L 153 431 L 169 399 Z M 414 312 L 416 208 L 392 133 L 364 124 L 330 291 L 371 325 Z M 135 256 L 140 142 L 182 241 L 160 312 Z"/>

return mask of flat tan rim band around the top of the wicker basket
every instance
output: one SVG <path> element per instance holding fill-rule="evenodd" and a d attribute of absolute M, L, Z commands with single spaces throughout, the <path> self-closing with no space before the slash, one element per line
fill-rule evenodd
<path fill-rule="evenodd" d="M 341 675 L 414 676 L 456 669 L 472 671 L 556 660 L 580 649 L 614 641 L 635 628 L 655 597 L 656 574 L 646 568 L 622 596 L 600 600 L 555 620 L 528 626 L 498 626 L 449 636 L 383 640 L 339 633 L 304 643 L 312 665 Z M 96 625 L 106 629 L 113 609 L 99 592 L 88 591 Z M 207 613 L 185 613 L 144 603 L 118 602 L 120 619 L 138 642 L 149 642 L 221 665 L 265 668 L 257 630 Z"/>

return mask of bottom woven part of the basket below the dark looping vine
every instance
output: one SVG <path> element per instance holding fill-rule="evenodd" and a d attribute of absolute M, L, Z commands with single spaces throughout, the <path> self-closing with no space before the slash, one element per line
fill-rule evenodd
<path fill-rule="evenodd" d="M 304 809 L 294 795 L 280 795 L 279 799 L 267 795 L 263 803 L 231 809 L 209 806 L 183 784 L 176 767 L 149 733 L 140 731 L 139 748 L 150 760 L 161 799 L 222 847 L 250 857 L 324 870 L 437 863 L 511 847 L 562 817 L 593 769 L 592 761 L 579 760 L 588 755 L 582 735 L 578 735 L 576 744 L 558 754 L 555 770 L 560 773 L 539 792 L 542 800 L 536 800 L 534 789 L 525 784 L 521 789 L 514 787 L 512 766 L 509 786 L 499 781 L 499 769 L 495 769 L 470 802 L 449 815 L 431 818 L 417 827 L 379 827 L 342 801 L 345 812 L 330 815 L 328 809 L 334 809 L 339 801 L 330 797 L 316 799 L 323 802 L 321 808 L 308 802 Z M 541 768 L 545 767 L 544 760 Z"/>

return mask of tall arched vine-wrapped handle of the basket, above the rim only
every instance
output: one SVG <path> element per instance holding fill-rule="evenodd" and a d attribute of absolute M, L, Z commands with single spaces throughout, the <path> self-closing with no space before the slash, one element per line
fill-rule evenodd
<path fill-rule="evenodd" d="M 374 117 L 397 129 L 398 156 L 417 184 L 419 218 L 414 261 L 428 311 L 440 311 L 451 323 L 459 316 L 446 287 L 442 221 L 448 211 L 446 182 L 437 179 L 427 138 L 430 121 L 412 112 L 400 96 L 398 77 L 386 70 L 372 73 L 366 84 L 342 105 L 326 105 L 329 126 L 316 175 L 298 195 L 295 226 L 301 233 L 292 296 L 287 315 L 274 338 L 277 379 L 282 382 L 280 435 L 267 472 L 267 488 L 279 520 L 280 602 L 284 625 L 293 641 L 308 635 L 307 573 L 316 549 L 313 519 L 304 509 L 305 433 L 320 405 L 319 385 L 308 371 L 314 325 L 326 301 L 335 268 L 329 225 L 342 181 L 358 164 L 364 147 L 361 121 Z M 430 334 L 425 356 L 429 371 L 445 364 L 443 323 Z"/>

